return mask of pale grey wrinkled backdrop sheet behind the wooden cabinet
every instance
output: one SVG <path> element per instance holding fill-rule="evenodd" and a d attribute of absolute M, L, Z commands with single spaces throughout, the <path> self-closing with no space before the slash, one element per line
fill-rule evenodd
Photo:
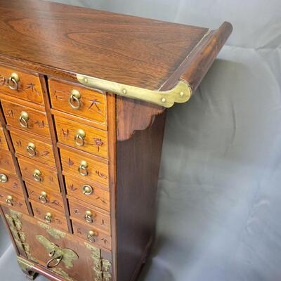
<path fill-rule="evenodd" d="M 60 2 L 211 28 L 233 24 L 197 94 L 168 112 L 157 242 L 141 280 L 280 281 L 281 1 Z M 1 280 L 24 280 L 0 235 Z"/>

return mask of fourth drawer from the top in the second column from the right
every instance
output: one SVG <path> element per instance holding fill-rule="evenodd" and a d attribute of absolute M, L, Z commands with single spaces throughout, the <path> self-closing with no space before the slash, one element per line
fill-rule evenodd
<path fill-rule="evenodd" d="M 40 189 L 47 187 L 55 191 L 60 191 L 56 169 L 40 164 L 39 162 L 26 160 L 23 157 L 18 158 L 18 163 L 20 164 L 20 171 L 22 172 L 24 181 L 29 181 Z"/>

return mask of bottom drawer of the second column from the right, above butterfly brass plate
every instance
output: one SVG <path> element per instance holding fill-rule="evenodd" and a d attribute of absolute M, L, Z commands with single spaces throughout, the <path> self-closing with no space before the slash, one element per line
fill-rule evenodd
<path fill-rule="evenodd" d="M 53 226 L 54 228 L 61 228 L 68 231 L 67 221 L 64 214 L 55 211 L 50 207 L 38 204 L 32 200 L 30 200 L 30 203 L 32 205 L 35 218 L 39 218 L 41 221 L 44 221 L 44 223 L 47 223 L 49 226 Z"/>

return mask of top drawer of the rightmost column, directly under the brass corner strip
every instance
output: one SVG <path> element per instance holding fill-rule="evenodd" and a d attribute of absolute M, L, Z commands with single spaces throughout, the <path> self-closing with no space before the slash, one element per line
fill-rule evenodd
<path fill-rule="evenodd" d="M 55 110 L 106 124 L 105 94 L 53 79 L 49 79 L 48 84 Z"/>

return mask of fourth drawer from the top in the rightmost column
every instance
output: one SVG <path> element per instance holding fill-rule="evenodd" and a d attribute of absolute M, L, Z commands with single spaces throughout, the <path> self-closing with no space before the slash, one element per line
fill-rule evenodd
<path fill-rule="evenodd" d="M 74 176 L 65 176 L 65 185 L 68 196 L 110 211 L 110 192 Z"/>

